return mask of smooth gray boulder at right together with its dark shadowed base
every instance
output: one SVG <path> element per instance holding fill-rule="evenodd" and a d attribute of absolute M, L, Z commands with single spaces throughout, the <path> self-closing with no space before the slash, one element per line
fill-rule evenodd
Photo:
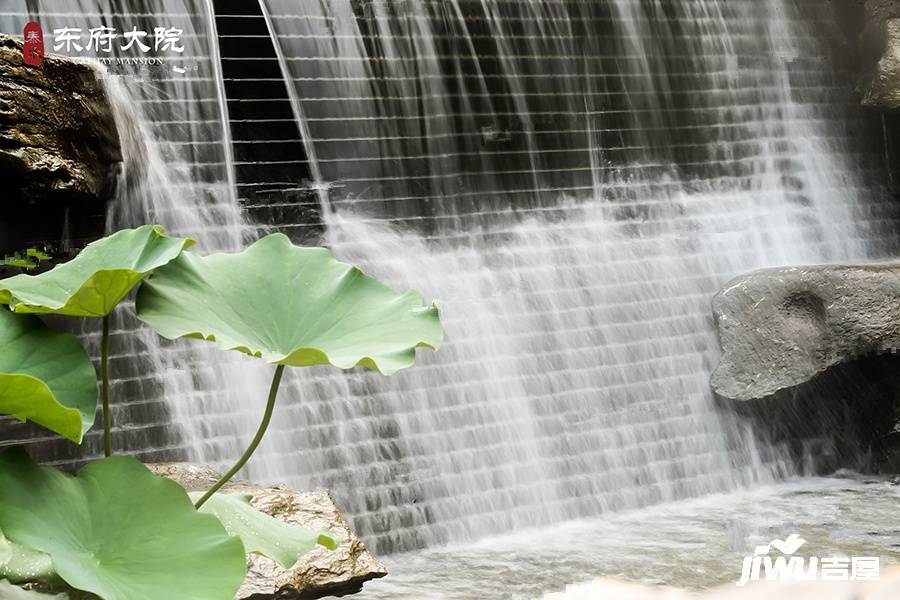
<path fill-rule="evenodd" d="M 713 390 L 757 435 L 819 473 L 900 473 L 900 264 L 757 271 L 713 314 Z"/>

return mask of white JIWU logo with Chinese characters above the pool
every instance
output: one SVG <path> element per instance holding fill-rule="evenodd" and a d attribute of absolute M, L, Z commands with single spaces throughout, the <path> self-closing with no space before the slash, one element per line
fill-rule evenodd
<path fill-rule="evenodd" d="M 738 587 L 749 581 L 872 581 L 878 579 L 881 559 L 877 556 L 853 556 L 851 558 L 833 556 L 808 559 L 794 556 L 806 540 L 792 533 L 786 539 L 772 540 L 767 546 L 757 546 L 753 556 L 745 556 L 741 565 Z M 770 556 L 775 549 L 781 556 Z M 760 571 L 764 576 L 761 576 Z"/>

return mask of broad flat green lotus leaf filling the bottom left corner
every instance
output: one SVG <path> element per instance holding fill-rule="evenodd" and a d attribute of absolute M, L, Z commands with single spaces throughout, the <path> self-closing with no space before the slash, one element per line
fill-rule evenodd
<path fill-rule="evenodd" d="M 46 552 L 71 587 L 107 600 L 231 600 L 244 549 L 177 483 L 113 456 L 77 476 L 0 453 L 0 528 Z"/>

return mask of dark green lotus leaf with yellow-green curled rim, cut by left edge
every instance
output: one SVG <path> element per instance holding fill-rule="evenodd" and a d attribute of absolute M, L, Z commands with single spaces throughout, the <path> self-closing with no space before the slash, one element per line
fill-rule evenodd
<path fill-rule="evenodd" d="M 0 310 L 0 413 L 81 443 L 97 412 L 97 374 L 74 335 Z"/>

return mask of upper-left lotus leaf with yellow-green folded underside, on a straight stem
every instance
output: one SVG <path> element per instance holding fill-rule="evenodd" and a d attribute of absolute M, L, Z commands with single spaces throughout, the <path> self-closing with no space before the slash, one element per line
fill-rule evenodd
<path fill-rule="evenodd" d="M 46 273 L 0 280 L 0 304 L 20 313 L 105 317 L 144 277 L 193 243 L 163 235 L 159 225 L 123 229 Z"/>

